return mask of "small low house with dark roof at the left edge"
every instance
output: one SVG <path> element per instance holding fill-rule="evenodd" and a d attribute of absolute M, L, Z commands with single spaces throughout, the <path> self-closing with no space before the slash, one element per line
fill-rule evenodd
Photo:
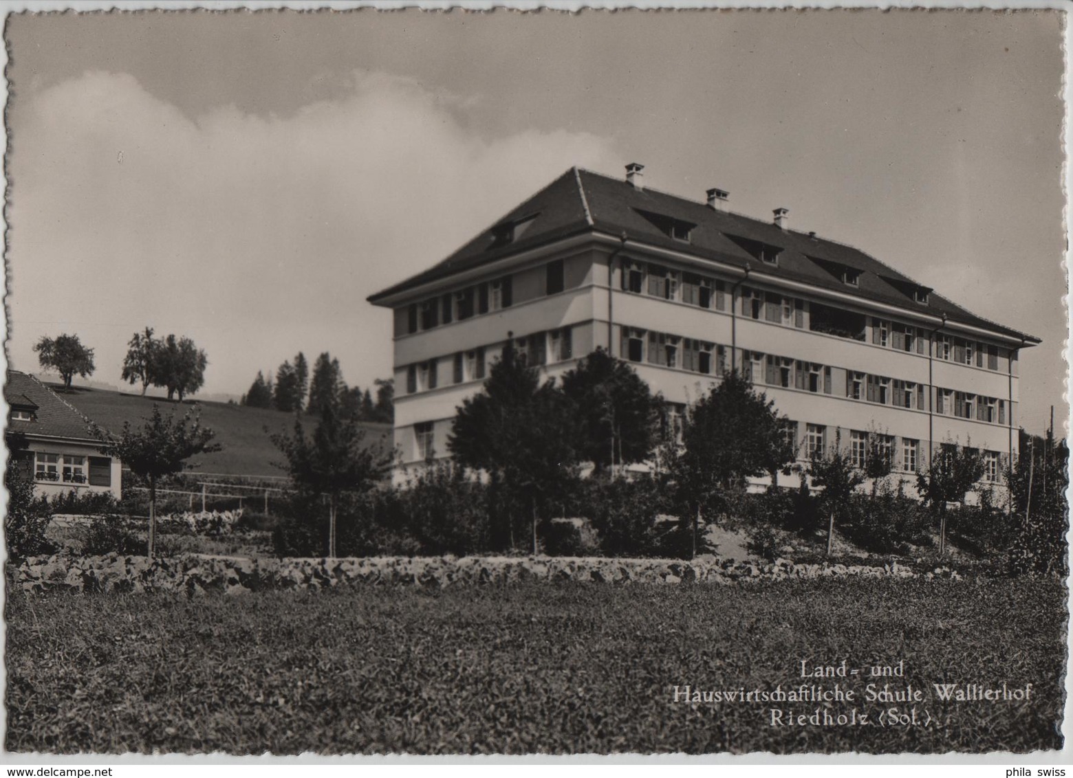
<path fill-rule="evenodd" d="M 4 439 L 11 466 L 33 480 L 38 495 L 111 492 L 122 496 L 122 464 L 102 454 L 89 421 L 33 376 L 8 371 Z"/>

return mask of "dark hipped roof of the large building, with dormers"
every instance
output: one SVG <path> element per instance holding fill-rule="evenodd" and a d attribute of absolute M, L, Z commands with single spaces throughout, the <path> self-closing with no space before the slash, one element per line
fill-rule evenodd
<path fill-rule="evenodd" d="M 695 225 L 689 243 L 674 240 L 642 212 L 658 213 Z M 524 237 L 505 245 L 495 245 L 497 228 L 536 214 Z M 638 190 L 623 179 L 571 168 L 532 197 L 513 209 L 496 225 L 473 238 L 443 261 L 369 297 L 378 302 L 388 296 L 416 288 L 431 281 L 487 265 L 528 249 L 589 231 L 626 236 L 629 240 L 723 263 L 750 267 L 762 283 L 765 275 L 836 290 L 862 300 L 882 302 L 908 312 L 946 315 L 965 324 L 1013 338 L 1039 343 L 1033 335 L 990 321 L 950 299 L 931 291 L 927 303 L 913 299 L 913 289 L 927 288 L 858 249 L 813 237 L 745 216 L 718 211 L 703 203 L 660 192 Z M 734 238 L 756 241 L 781 250 L 778 266 L 761 265 Z M 825 267 L 826 265 L 826 267 Z M 858 271 L 858 285 L 850 286 L 833 273 L 841 266 Z"/>

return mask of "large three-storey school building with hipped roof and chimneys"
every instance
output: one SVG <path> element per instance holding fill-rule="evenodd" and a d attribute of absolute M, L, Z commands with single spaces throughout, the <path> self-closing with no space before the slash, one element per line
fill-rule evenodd
<path fill-rule="evenodd" d="M 792 423 L 798 458 L 868 436 L 908 482 L 945 443 L 1017 452 L 1017 359 L 1039 339 L 976 316 L 813 233 L 626 179 L 569 170 L 445 260 L 369 298 L 394 312 L 395 444 L 447 457 L 456 408 L 508 339 L 549 376 L 596 348 L 629 361 L 668 418 L 732 368 Z M 878 436 L 878 437 L 877 437 Z M 796 477 L 793 483 L 797 483 Z"/>

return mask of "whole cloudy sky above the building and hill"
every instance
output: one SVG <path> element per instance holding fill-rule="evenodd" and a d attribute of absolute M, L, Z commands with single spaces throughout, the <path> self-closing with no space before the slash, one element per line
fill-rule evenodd
<path fill-rule="evenodd" d="M 850 243 L 1043 339 L 1067 418 L 1054 11 L 407 10 L 8 17 L 12 366 L 146 326 L 241 394 L 302 350 L 391 373 L 366 297 L 572 165 Z"/>

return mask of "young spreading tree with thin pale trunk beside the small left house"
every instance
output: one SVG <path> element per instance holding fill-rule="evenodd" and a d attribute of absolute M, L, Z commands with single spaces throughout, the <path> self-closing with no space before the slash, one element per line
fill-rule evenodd
<path fill-rule="evenodd" d="M 152 416 L 136 430 L 129 421 L 123 423 L 123 431 L 118 436 L 95 424 L 91 429 L 101 442 L 101 453 L 117 458 L 149 484 L 148 554 L 151 557 L 157 537 L 157 483 L 161 478 L 179 473 L 191 457 L 219 451 L 220 445 L 212 443 L 216 434 L 202 427 L 196 406 L 176 419 L 174 413 L 165 418 L 156 403 Z"/>

